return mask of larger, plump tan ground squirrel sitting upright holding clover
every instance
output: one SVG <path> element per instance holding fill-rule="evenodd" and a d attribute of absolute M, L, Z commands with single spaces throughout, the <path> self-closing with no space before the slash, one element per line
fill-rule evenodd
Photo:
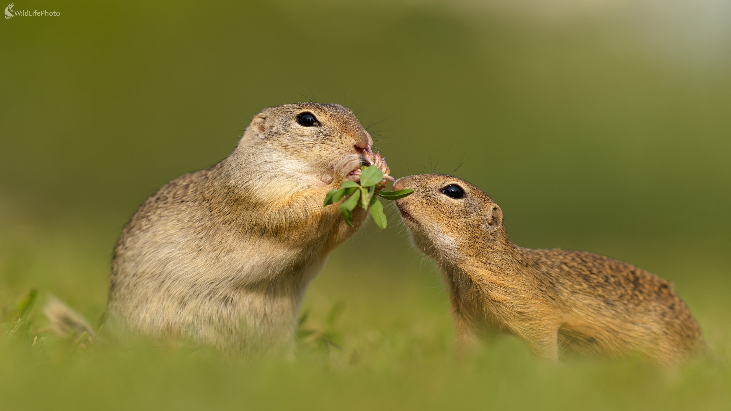
<path fill-rule="evenodd" d="M 312 113 L 317 127 L 298 124 Z M 301 103 L 254 117 L 235 151 L 171 181 L 119 238 L 107 318 L 226 352 L 285 350 L 309 282 L 366 218 L 322 207 L 373 140 L 348 108 Z"/>

